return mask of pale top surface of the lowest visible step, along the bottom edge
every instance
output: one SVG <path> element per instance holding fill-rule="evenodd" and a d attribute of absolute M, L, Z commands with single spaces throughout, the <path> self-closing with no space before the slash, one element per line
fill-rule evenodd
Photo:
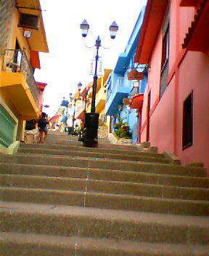
<path fill-rule="evenodd" d="M 94 249 L 113 249 L 113 252 L 117 252 L 117 249 L 126 249 L 131 250 L 131 252 L 147 252 L 147 248 L 154 250 L 155 252 L 176 252 L 176 249 L 180 249 L 181 252 L 184 252 L 184 249 L 188 253 L 188 249 L 195 251 L 200 249 L 202 252 L 208 252 L 209 246 L 204 244 L 168 244 L 168 243 L 151 243 L 151 242 L 140 242 L 140 241 L 128 241 L 128 240 L 120 240 L 118 239 L 105 239 L 105 238 L 92 238 L 92 237 L 81 237 L 81 236 L 58 236 L 58 235 L 49 235 L 49 234 L 39 234 L 39 233 L 17 233 L 17 232 L 1 232 L 1 242 L 4 241 L 12 241 L 12 244 L 36 244 L 38 242 L 39 245 L 49 244 L 49 246 L 54 246 L 54 244 L 58 243 L 58 245 L 62 247 L 70 247 L 70 242 L 75 243 L 77 246 L 81 247 L 82 244 L 85 249 L 92 249 L 92 244 L 94 244 Z M 61 241 L 60 241 L 61 240 Z M 87 243 L 86 243 L 87 241 Z M 39 243 L 40 242 L 40 243 Z M 98 244 L 95 247 L 95 244 Z M 104 246 L 105 245 L 105 246 Z M 103 247 L 102 247 L 103 246 Z M 112 247 L 112 248 L 111 248 Z M 160 247 L 163 247 L 160 249 Z M 166 251 L 165 251 L 166 250 Z M 201 253 L 202 253 L 201 252 Z M 129 254 L 128 254 L 129 255 Z M 179 254 L 180 255 L 180 254 Z"/>

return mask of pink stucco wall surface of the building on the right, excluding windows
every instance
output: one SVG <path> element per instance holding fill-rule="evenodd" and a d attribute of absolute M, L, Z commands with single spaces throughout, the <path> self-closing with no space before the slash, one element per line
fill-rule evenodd
<path fill-rule="evenodd" d="M 172 72 L 173 76 L 163 97 L 157 103 L 162 55 L 161 30 L 149 63 L 151 67 L 148 74 L 149 87 L 144 93 L 142 126 L 147 119 L 147 94 L 150 89 L 151 109 L 155 108 L 150 118 L 151 145 L 157 146 L 160 152 L 173 153 L 175 151 L 183 164 L 194 161 L 203 162 L 209 176 L 209 55 L 202 52 L 187 52 L 181 64 L 176 65 L 182 51 L 181 44 L 193 19 L 194 8 L 179 7 L 179 0 L 171 0 L 169 77 Z M 182 151 L 183 103 L 192 90 L 194 97 L 193 145 Z M 141 139 L 142 142 L 146 140 L 146 127 L 142 131 Z"/>

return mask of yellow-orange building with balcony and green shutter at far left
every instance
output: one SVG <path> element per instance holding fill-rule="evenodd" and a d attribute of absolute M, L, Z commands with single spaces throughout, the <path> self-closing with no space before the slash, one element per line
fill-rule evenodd
<path fill-rule="evenodd" d="M 13 153 L 25 121 L 38 118 L 38 52 L 49 52 L 39 0 L 1 1 L 0 152 Z"/>

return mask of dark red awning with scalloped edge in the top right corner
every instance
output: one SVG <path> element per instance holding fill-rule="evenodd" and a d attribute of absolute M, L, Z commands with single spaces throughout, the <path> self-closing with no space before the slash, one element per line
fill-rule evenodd
<path fill-rule="evenodd" d="M 184 38 L 183 49 L 189 51 L 207 52 L 209 49 L 209 1 L 204 1 L 194 15 L 189 32 Z"/>

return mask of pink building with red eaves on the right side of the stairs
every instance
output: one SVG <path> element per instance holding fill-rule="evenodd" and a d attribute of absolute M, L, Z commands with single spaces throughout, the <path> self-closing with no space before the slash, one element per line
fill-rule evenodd
<path fill-rule="evenodd" d="M 149 65 L 141 141 L 209 175 L 209 0 L 148 0 L 135 62 Z"/>

